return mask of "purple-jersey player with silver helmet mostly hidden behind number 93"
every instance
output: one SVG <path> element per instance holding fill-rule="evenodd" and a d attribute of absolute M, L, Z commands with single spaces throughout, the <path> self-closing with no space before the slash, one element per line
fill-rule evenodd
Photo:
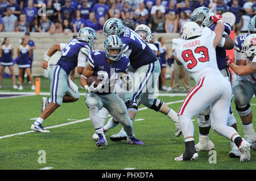
<path fill-rule="evenodd" d="M 191 15 L 191 21 L 196 22 L 203 27 L 208 27 L 210 30 L 214 31 L 216 26 L 212 22 L 210 16 L 214 15 L 213 11 L 207 7 L 198 7 L 195 9 Z M 224 22 L 225 30 L 222 33 L 222 40 L 216 48 L 216 58 L 218 69 L 220 69 L 224 77 L 229 77 L 230 84 L 232 84 L 232 73 L 229 67 L 226 65 L 226 50 L 234 48 L 234 41 L 229 36 L 231 32 L 231 26 Z M 196 151 L 209 151 L 214 149 L 214 144 L 210 141 L 210 107 L 206 108 L 199 115 L 197 115 L 197 123 L 199 125 L 199 142 L 196 144 Z M 236 118 L 234 117 L 233 110 L 230 106 L 228 125 L 237 130 Z M 238 150 L 236 144 L 230 141 L 231 150 L 229 151 L 229 156 L 232 158 L 239 158 L 240 151 Z"/>

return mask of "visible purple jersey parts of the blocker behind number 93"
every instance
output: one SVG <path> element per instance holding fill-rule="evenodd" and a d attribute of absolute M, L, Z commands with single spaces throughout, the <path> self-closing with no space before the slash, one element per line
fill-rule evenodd
<path fill-rule="evenodd" d="M 208 28 L 210 28 L 210 30 L 214 31 L 216 24 L 212 24 L 210 25 Z M 230 35 L 231 32 L 231 26 L 229 23 L 224 23 L 225 26 L 225 32 L 228 33 L 228 35 Z M 226 69 L 228 68 L 228 66 L 226 65 L 226 49 L 225 48 L 221 48 L 221 47 L 216 47 L 216 58 L 217 58 L 217 65 L 218 65 L 218 69 L 222 70 L 222 69 Z"/>

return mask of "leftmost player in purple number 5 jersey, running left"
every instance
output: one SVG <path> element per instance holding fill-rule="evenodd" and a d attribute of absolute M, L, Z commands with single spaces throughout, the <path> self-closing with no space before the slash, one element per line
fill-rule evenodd
<path fill-rule="evenodd" d="M 96 32 L 92 28 L 85 27 L 79 31 L 78 39 L 72 39 L 68 44 L 55 44 L 48 50 L 41 64 L 43 69 L 48 68 L 48 61 L 55 52 L 61 51 L 62 54 L 48 73 L 51 98 L 42 98 L 42 114 L 31 125 L 31 130 L 49 132 L 42 127 L 43 121 L 62 103 L 75 102 L 79 99 L 78 87 L 71 81 L 69 74 L 76 66 L 77 73 L 82 73 L 96 39 Z"/>

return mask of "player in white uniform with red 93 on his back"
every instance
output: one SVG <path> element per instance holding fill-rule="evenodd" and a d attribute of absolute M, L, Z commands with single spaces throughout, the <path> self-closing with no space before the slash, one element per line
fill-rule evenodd
<path fill-rule="evenodd" d="M 181 30 L 181 39 L 173 39 L 175 58 L 184 65 L 196 81 L 196 86 L 188 93 L 181 105 L 178 116 L 181 132 L 184 136 L 185 151 L 175 161 L 196 159 L 194 127 L 192 117 L 210 106 L 212 128 L 221 136 L 232 140 L 240 149 L 240 161 L 250 160 L 250 145 L 233 127 L 228 127 L 229 105 L 232 99 L 232 87 L 217 66 L 216 50 L 222 39 L 224 24 L 220 15 L 212 16 L 217 23 L 214 31 L 201 28 L 195 22 L 185 23 Z M 199 103 L 200 101 L 200 103 Z"/>

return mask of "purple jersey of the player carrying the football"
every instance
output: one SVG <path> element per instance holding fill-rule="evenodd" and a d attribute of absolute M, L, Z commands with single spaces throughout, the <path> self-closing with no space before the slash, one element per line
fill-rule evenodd
<path fill-rule="evenodd" d="M 88 57 L 88 63 L 93 68 L 93 75 L 101 77 L 101 75 L 108 74 L 109 78 L 109 89 L 104 87 L 104 90 L 108 90 L 107 92 L 96 92 L 99 95 L 110 94 L 114 91 L 114 83 L 118 78 L 118 73 L 126 73 L 130 61 L 129 58 L 122 54 L 122 57 L 115 61 L 112 65 L 106 60 L 105 52 L 100 50 L 94 50 L 90 53 Z M 103 76 L 102 76 L 103 77 Z"/>

